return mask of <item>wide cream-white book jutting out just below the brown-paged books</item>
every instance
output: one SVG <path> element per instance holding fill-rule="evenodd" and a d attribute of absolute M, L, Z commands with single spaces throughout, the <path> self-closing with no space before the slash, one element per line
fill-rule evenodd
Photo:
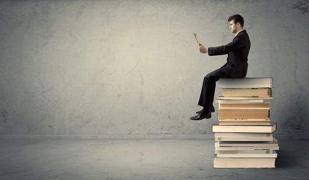
<path fill-rule="evenodd" d="M 273 133 L 277 124 L 273 125 L 213 125 L 214 133 Z"/>

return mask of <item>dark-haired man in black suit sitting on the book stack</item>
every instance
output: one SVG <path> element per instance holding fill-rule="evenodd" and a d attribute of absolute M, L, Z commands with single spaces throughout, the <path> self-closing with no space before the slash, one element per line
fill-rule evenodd
<path fill-rule="evenodd" d="M 203 106 L 203 110 L 196 112 L 197 115 L 191 117 L 191 120 L 211 118 L 211 112 L 214 112 L 212 103 L 214 102 L 216 81 L 220 78 L 244 78 L 247 75 L 247 61 L 251 44 L 247 31 L 243 29 L 244 18 L 235 14 L 228 18 L 228 22 L 229 29 L 236 34 L 232 42 L 220 47 L 205 47 L 203 44 L 198 46 L 201 53 L 208 53 L 208 55 L 227 54 L 227 63 L 204 77 L 198 101 L 198 105 Z"/>

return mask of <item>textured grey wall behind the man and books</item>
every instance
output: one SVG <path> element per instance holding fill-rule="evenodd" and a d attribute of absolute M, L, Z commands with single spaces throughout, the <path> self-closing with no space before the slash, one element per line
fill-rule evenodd
<path fill-rule="evenodd" d="M 227 56 L 193 33 L 226 44 L 232 14 L 247 77 L 274 78 L 277 133 L 309 137 L 308 1 L 1 1 L 0 134 L 211 133 L 216 114 L 189 118 Z"/>

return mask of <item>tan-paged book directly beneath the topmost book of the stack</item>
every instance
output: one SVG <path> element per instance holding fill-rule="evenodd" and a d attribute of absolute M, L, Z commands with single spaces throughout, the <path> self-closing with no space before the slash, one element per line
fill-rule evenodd
<path fill-rule="evenodd" d="M 271 88 L 222 89 L 223 97 L 271 97 Z"/>

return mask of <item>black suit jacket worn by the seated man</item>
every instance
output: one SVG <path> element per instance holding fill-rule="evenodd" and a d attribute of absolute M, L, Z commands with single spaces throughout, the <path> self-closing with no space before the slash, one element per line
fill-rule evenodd
<path fill-rule="evenodd" d="M 247 75 L 250 39 L 246 30 L 240 31 L 232 42 L 220 47 L 209 47 L 208 55 L 227 56 L 227 63 L 220 68 L 231 77 L 243 78 Z"/>

